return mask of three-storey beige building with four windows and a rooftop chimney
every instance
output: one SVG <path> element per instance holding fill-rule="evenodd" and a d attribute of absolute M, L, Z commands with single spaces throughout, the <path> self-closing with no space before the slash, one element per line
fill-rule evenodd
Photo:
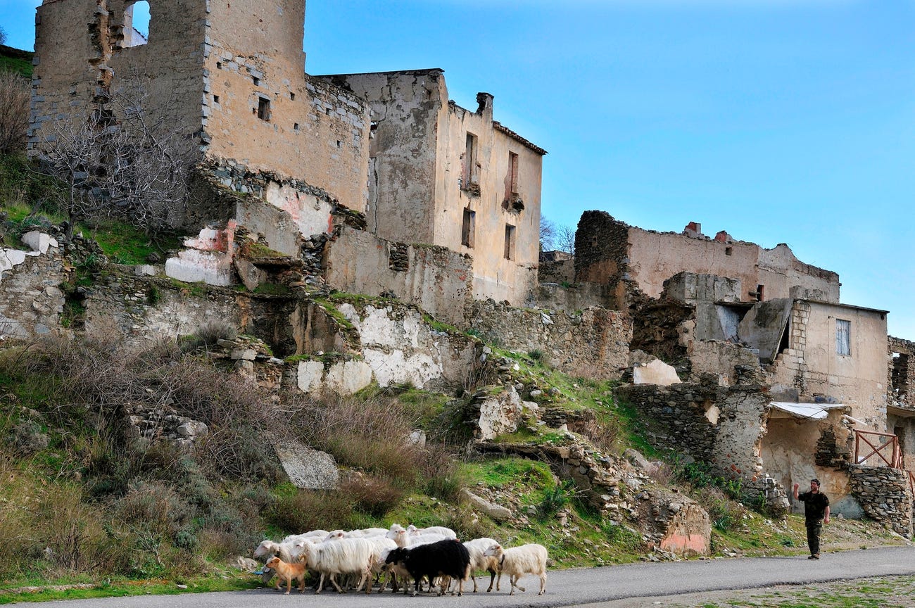
<path fill-rule="evenodd" d="M 449 101 L 441 69 L 324 78 L 370 105 L 369 229 L 468 254 L 477 299 L 530 302 L 546 151 L 493 120 L 489 93 Z"/>

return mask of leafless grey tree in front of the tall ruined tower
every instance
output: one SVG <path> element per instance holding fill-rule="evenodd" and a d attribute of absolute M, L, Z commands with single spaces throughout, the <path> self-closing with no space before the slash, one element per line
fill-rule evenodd
<path fill-rule="evenodd" d="M 55 123 L 38 159 L 44 172 L 67 186 L 61 206 L 70 233 L 81 219 L 112 213 L 151 238 L 176 226 L 197 157 L 196 147 L 179 133 L 163 117 L 145 112 L 142 100 L 122 94 L 85 121 Z"/>

